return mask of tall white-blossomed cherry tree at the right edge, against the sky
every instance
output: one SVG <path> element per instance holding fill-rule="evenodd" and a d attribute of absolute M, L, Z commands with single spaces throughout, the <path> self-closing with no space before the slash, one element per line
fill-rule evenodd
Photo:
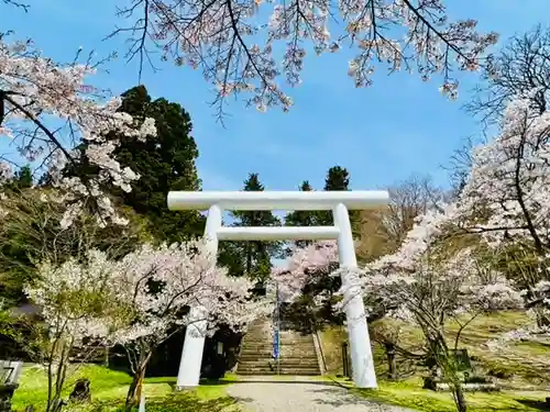
<path fill-rule="evenodd" d="M 550 280 L 550 111 L 534 105 L 534 96 L 539 89 L 514 99 L 496 138 L 474 149 L 458 213 L 469 220 L 470 231 L 507 252 L 527 303 L 540 309 L 542 326 L 550 324 L 539 304 L 548 299 Z"/>

